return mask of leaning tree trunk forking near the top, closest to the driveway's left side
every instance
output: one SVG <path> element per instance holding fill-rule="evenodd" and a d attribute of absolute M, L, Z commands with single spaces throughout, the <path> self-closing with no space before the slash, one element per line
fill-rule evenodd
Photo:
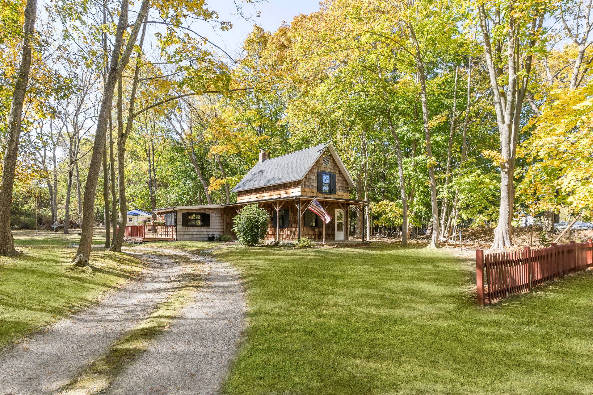
<path fill-rule="evenodd" d="M 101 171 L 103 146 L 105 144 L 105 138 L 107 134 L 107 122 L 109 121 L 111 114 L 113 93 L 119 75 L 121 75 L 123 68 L 127 65 L 127 62 L 129 62 L 130 54 L 132 53 L 133 47 L 136 43 L 136 37 L 138 37 L 140 25 L 148 13 L 149 0 L 142 0 L 138 17 L 136 18 L 136 22 L 130 31 L 130 36 L 128 38 L 125 50 L 120 56 L 123 33 L 127 27 L 128 6 L 129 3 L 127 0 L 122 1 L 119 21 L 117 21 L 116 37 L 113 41 L 113 52 L 111 53 L 109 72 L 107 72 L 107 79 L 103 89 L 103 97 L 101 98 L 101 107 L 97 118 L 97 129 L 95 131 L 95 141 L 93 143 L 93 155 L 91 155 L 87 184 L 85 185 L 84 189 L 84 202 L 82 207 L 82 235 L 74 258 L 74 264 L 77 266 L 88 265 L 88 259 L 91 255 L 91 245 L 93 244 L 95 192 L 97 191 L 99 172 Z"/>

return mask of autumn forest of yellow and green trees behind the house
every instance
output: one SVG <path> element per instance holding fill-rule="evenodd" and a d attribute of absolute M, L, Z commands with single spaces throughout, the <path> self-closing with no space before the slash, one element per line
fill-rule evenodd
<path fill-rule="evenodd" d="M 404 239 L 428 228 L 436 246 L 464 222 L 503 248 L 519 213 L 547 232 L 560 211 L 589 219 L 591 7 L 329 0 L 227 53 L 207 37 L 232 25 L 205 2 L 0 0 L 4 120 L 31 48 L 17 143 L 0 124 L 10 227 L 68 232 L 86 207 L 88 233 L 132 208 L 231 203 L 260 149 L 326 141 L 366 221 Z"/>

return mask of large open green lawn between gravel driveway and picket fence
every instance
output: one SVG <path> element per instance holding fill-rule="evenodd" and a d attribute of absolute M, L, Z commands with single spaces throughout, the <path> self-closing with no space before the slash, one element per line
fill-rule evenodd
<path fill-rule="evenodd" d="M 444 251 L 213 255 L 250 305 L 227 394 L 593 393 L 593 271 L 479 307 L 473 266 Z"/>

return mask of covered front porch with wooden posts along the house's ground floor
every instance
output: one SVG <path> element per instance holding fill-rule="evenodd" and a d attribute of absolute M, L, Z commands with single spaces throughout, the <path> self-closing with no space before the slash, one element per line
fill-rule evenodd
<path fill-rule="evenodd" d="M 314 198 L 330 214 L 331 220 L 327 224 L 313 211 L 308 210 Z M 225 204 L 223 206 L 225 234 L 236 237 L 232 232 L 233 218 L 248 204 L 258 204 L 270 213 L 269 231 L 264 239 L 266 241 L 295 242 L 301 237 L 308 237 L 321 244 L 343 245 L 350 241 L 350 210 L 353 207 L 359 207 L 364 211 L 364 206 L 368 203 L 343 198 L 295 196 Z M 364 229 L 363 235 L 366 235 Z M 362 240 L 358 243 L 362 243 Z"/>

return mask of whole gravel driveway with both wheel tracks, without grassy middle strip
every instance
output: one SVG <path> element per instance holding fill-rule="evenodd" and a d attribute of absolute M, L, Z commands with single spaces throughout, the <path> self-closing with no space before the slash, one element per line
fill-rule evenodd
<path fill-rule="evenodd" d="M 176 251 L 167 253 L 179 255 Z M 140 253 L 147 264 L 140 278 L 95 306 L 4 350 L 0 355 L 0 395 L 215 391 L 245 326 L 243 288 L 231 266 L 182 254 L 184 259 Z M 120 361 L 121 371 L 103 386 L 91 383 L 71 390 L 72 383 L 84 381 L 88 367 L 103 364 L 113 354 L 113 345 L 150 320 L 167 298 L 183 288 L 183 273 L 190 263 L 198 265 L 204 284 L 192 291 L 190 302 L 178 316 L 167 317 L 170 324 L 166 329 L 150 339 L 138 358 Z"/>

